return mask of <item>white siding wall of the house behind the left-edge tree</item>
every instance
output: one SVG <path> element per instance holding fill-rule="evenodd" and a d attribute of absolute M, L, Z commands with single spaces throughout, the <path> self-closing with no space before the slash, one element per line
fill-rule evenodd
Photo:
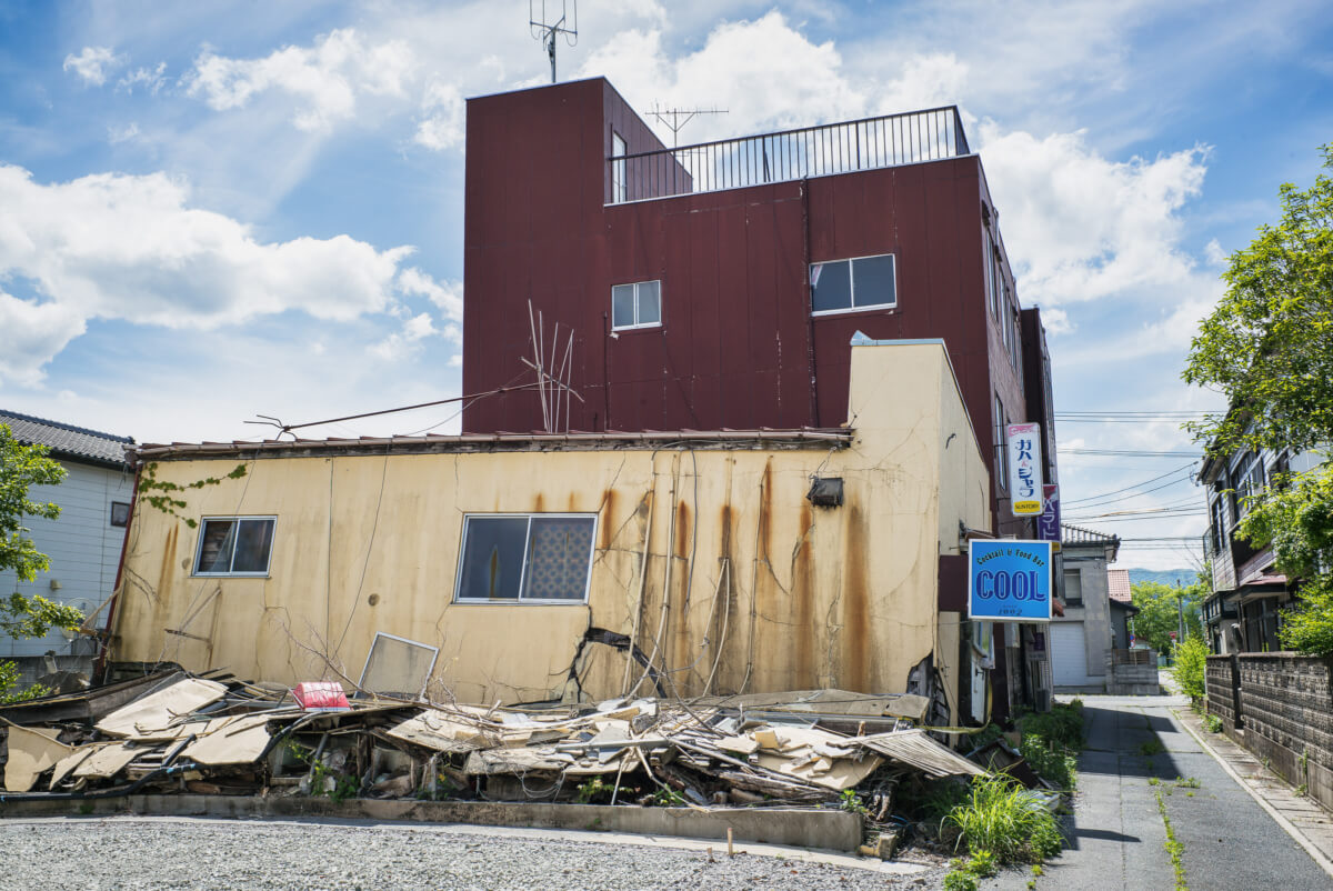
<path fill-rule="evenodd" d="M 111 503 L 129 502 L 135 478 L 129 471 L 64 460 L 60 464 L 69 474 L 64 483 L 29 490 L 32 500 L 59 504 L 60 519 L 28 518 L 24 522 L 32 530 L 37 550 L 51 558 L 51 570 L 39 572 L 33 582 L 17 584 L 13 572 L 0 572 L 0 592 L 40 594 L 91 612 L 111 596 L 116 583 L 125 530 L 111 524 Z M 59 590 L 51 588 L 52 579 L 60 583 Z M 103 610 L 96 624 L 104 627 L 105 622 L 107 611 Z M 71 644 L 60 632 L 28 640 L 0 635 L 0 658 L 40 656 L 48 651 L 67 655 Z"/>

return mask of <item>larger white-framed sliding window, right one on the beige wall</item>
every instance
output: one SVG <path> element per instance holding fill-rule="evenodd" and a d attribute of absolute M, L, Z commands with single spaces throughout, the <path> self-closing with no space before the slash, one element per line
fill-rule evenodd
<path fill-rule="evenodd" d="M 469 514 L 453 599 L 584 603 L 596 530 L 596 514 Z"/>

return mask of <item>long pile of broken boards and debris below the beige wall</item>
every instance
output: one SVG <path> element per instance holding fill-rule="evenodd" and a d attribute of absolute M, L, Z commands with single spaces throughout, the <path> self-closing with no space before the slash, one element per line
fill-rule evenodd
<path fill-rule="evenodd" d="M 599 706 L 348 700 L 171 671 L 0 708 L 0 802 L 184 791 L 818 806 L 985 771 L 917 724 L 920 696 L 836 690 Z"/>

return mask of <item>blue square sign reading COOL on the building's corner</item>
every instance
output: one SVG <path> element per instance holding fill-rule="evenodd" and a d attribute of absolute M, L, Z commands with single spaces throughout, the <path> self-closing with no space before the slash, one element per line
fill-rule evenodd
<path fill-rule="evenodd" d="M 1050 542 L 968 543 L 968 618 L 1050 622 Z"/>

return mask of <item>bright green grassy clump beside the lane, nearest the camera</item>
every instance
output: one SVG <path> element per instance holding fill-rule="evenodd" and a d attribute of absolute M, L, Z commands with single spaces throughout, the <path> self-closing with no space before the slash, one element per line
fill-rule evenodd
<path fill-rule="evenodd" d="M 944 822 L 957 827 L 960 844 L 988 851 L 1000 863 L 1034 863 L 1061 847 L 1056 818 L 1042 799 L 1004 775 L 973 779 L 968 799 Z"/>

